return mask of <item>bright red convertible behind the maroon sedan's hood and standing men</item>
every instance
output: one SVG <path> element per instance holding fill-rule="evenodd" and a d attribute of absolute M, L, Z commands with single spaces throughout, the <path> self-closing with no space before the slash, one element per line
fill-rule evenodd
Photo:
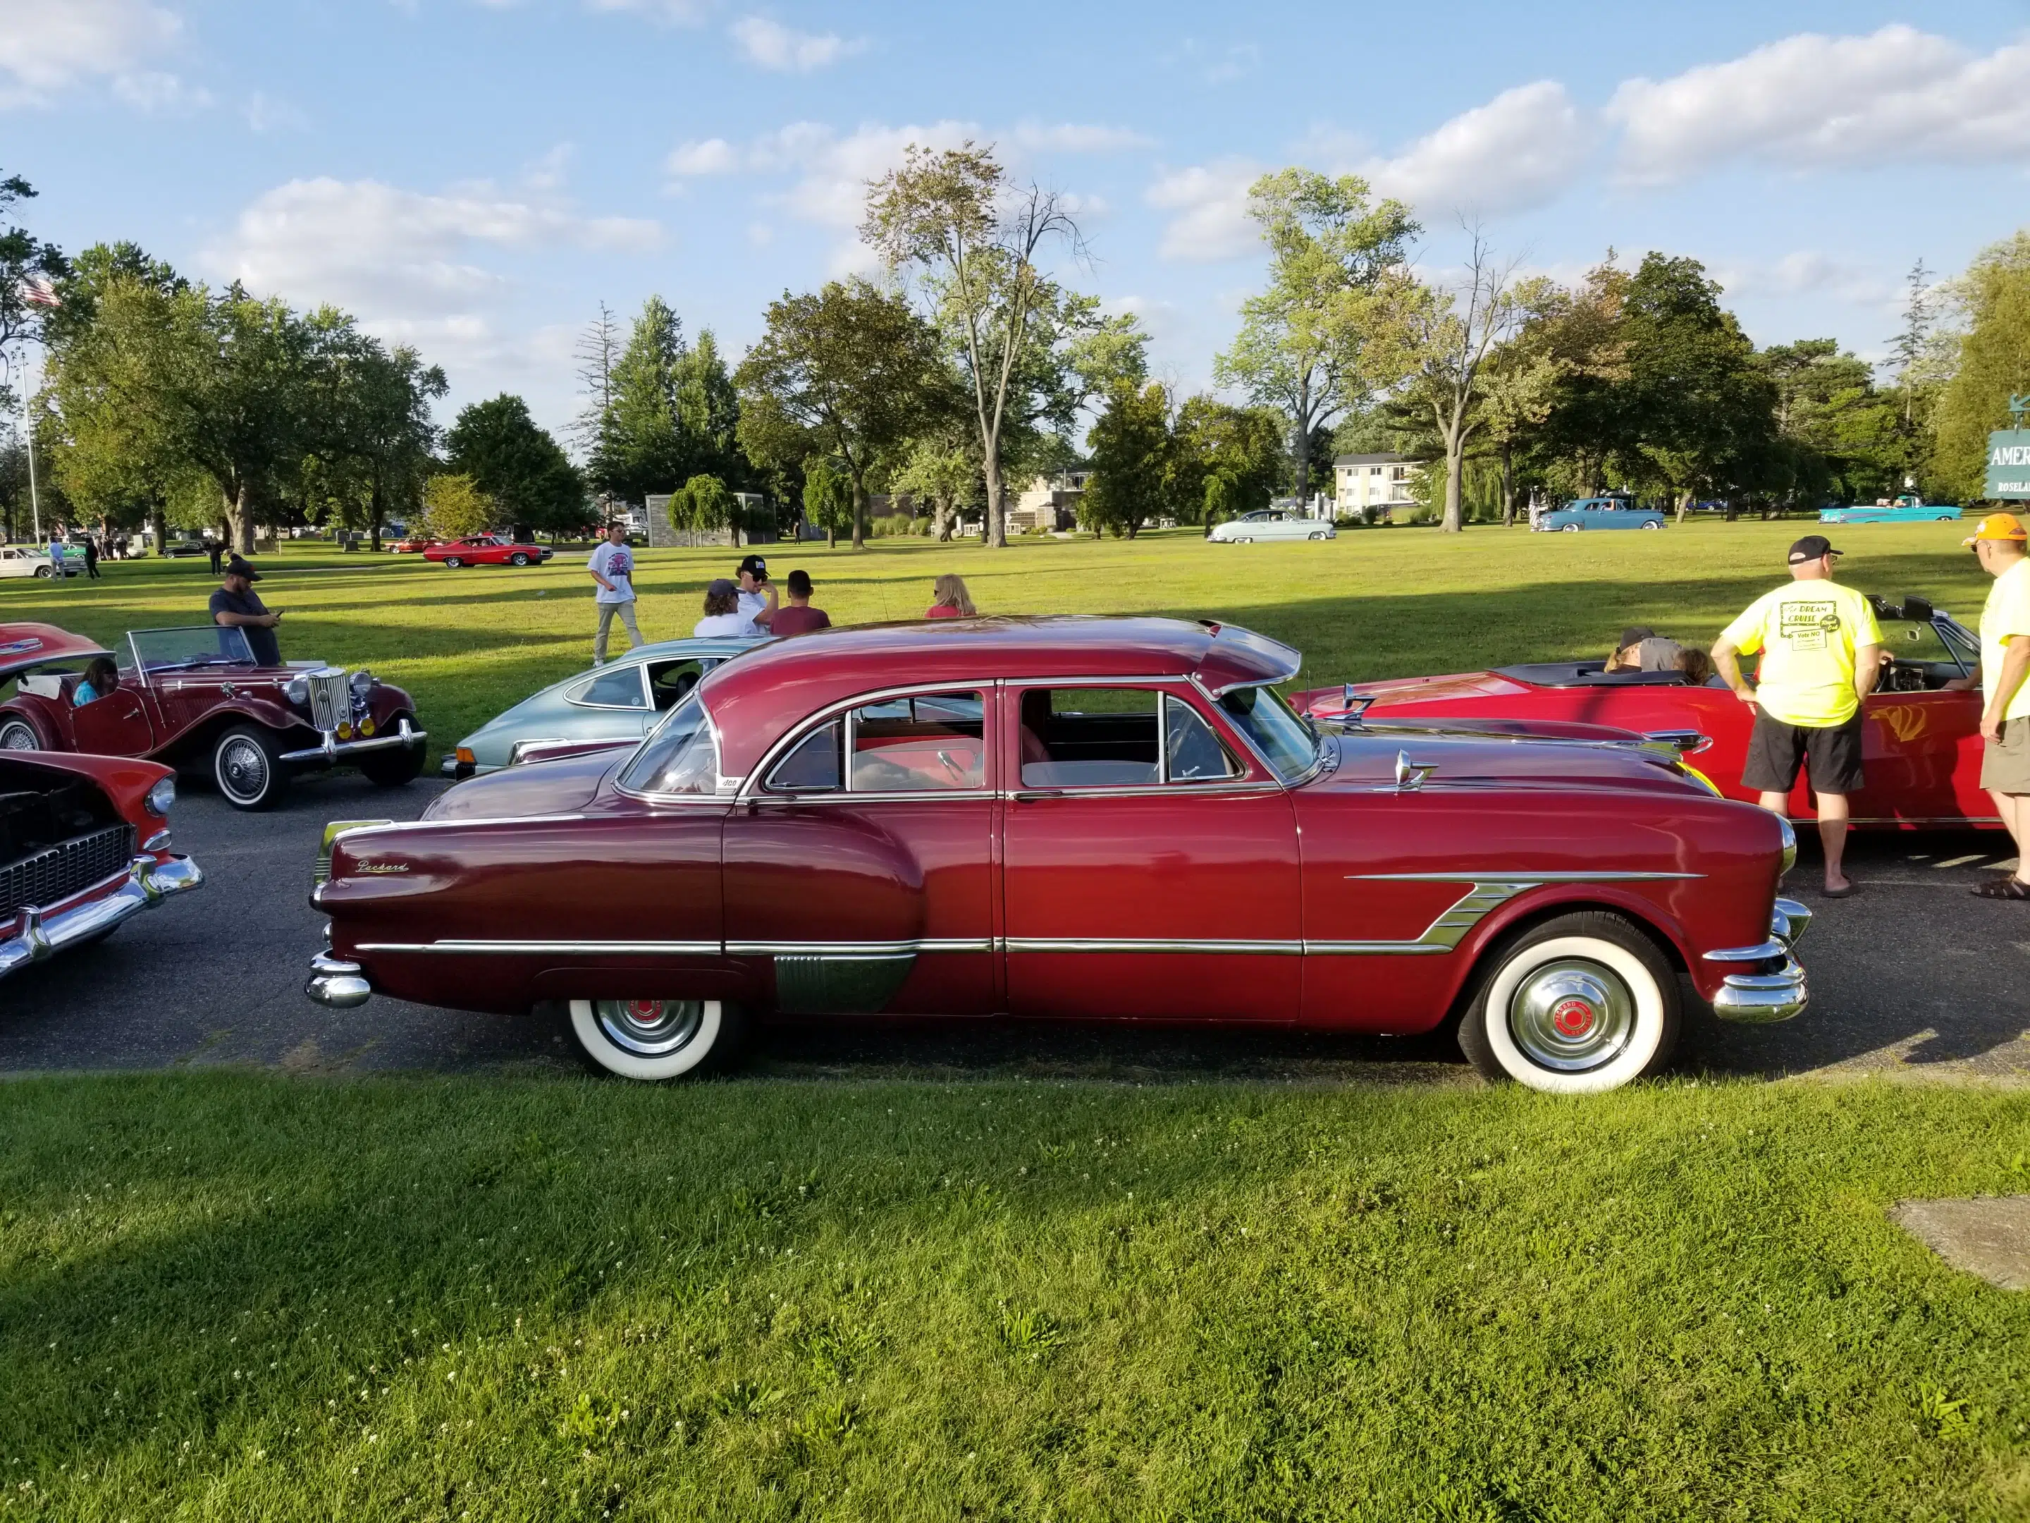
<path fill-rule="evenodd" d="M 1981 646 L 1951 613 L 1920 597 L 1890 603 L 1870 597 L 1890 664 L 1862 703 L 1868 786 L 1853 794 L 1862 826 L 1995 829 L 1981 792 L 1981 694 L 1945 684 L 1979 670 Z M 1744 670 L 1754 658 L 1744 658 Z M 1636 733 L 1695 731 L 1693 766 L 1728 798 L 1754 802 L 1742 788 L 1754 709 L 1713 678 L 1689 686 L 1679 672 L 1604 672 L 1600 660 L 1533 662 L 1456 676 L 1411 676 L 1297 692 L 1291 703 L 1317 719 L 1352 717 L 1401 723 L 1516 719 L 1583 721 Z M 1809 780 L 1790 794 L 1790 816 L 1815 818 Z"/>

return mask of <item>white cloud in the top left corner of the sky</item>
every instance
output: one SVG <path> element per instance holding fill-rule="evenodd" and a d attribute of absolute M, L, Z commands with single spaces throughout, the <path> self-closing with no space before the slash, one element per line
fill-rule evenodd
<path fill-rule="evenodd" d="M 205 104 L 203 91 L 144 67 L 181 35 L 183 18 L 150 0 L 0 0 L 0 108 L 47 106 L 89 79 L 142 110 Z"/>

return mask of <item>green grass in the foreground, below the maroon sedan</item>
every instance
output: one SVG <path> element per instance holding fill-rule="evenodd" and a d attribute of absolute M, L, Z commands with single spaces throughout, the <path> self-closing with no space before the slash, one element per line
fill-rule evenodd
<path fill-rule="evenodd" d="M 0 1517 L 2004 1519 L 2030 1105 L 24 1080 Z"/>

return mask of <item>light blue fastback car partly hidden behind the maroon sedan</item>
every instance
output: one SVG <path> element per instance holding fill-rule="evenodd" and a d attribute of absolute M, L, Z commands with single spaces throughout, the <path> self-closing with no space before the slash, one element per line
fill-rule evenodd
<path fill-rule="evenodd" d="M 633 743 L 698 686 L 698 678 L 761 640 L 664 640 L 566 676 L 489 719 L 445 757 L 447 778 L 499 772 L 516 762 L 599 741 Z"/>

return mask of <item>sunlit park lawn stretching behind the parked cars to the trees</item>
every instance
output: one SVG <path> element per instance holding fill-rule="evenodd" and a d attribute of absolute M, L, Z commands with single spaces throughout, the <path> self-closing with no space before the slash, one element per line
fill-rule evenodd
<path fill-rule="evenodd" d="M 1476 528 L 1362 530 L 1326 544 L 1208 544 L 1196 530 L 1127 540 L 1031 540 L 1007 550 L 873 540 L 867 550 L 765 546 L 777 575 L 804 567 L 836 623 L 920 617 L 930 583 L 960 573 L 989 613 L 1220 617 L 1305 654 L 1303 682 L 1449 672 L 1600 654 L 1626 623 L 1709 642 L 1782 581 L 1803 522 L 1693 520 L 1659 534 Z M 1987 579 L 1961 524 L 1868 524 L 1835 536 L 1868 591 L 1924 593 L 1969 619 Z M 591 664 L 593 583 L 570 550 L 542 569 L 445 571 L 418 556 L 286 546 L 262 556 L 262 597 L 286 609 L 282 654 L 371 666 L 416 697 L 432 751 L 510 703 Z M 652 640 L 690 634 L 704 583 L 733 550 L 646 550 L 635 585 Z M 95 585 L 0 583 L 0 623 L 51 619 L 114 640 L 205 619 L 203 560 L 114 562 Z M 621 636 L 625 638 L 625 636 Z"/>

